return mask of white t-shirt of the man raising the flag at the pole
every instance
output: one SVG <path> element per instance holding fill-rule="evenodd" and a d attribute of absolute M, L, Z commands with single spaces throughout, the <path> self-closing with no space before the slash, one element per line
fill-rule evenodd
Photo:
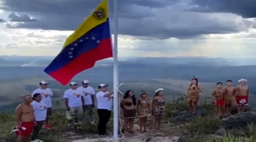
<path fill-rule="evenodd" d="M 106 93 L 109 93 L 109 92 L 100 91 L 96 94 L 98 109 L 108 109 L 108 110 L 112 109 L 113 99 L 109 99 L 108 97 L 103 97 Z"/>

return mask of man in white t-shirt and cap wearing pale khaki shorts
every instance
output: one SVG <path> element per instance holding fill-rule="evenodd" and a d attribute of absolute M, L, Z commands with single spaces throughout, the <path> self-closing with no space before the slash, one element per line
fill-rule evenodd
<path fill-rule="evenodd" d="M 70 82 L 70 89 L 65 91 L 63 98 L 65 98 L 66 117 L 68 119 L 68 126 L 75 121 L 75 124 L 83 122 L 83 108 L 84 97 L 82 92 L 77 89 L 76 82 Z"/>

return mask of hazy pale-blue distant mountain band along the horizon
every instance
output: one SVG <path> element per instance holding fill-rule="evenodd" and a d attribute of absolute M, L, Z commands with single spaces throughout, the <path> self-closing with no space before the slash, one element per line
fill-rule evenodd
<path fill-rule="evenodd" d="M 0 66 L 47 66 L 53 56 L 0 56 Z M 120 58 L 120 64 L 139 62 L 143 64 L 193 65 L 193 66 L 241 66 L 256 65 L 256 58 L 205 58 L 205 57 L 137 57 Z M 112 65 L 111 59 L 97 62 L 99 65 Z"/>

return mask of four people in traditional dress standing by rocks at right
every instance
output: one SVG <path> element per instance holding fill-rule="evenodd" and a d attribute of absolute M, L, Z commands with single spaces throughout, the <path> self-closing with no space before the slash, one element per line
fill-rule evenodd
<path fill-rule="evenodd" d="M 238 80 L 239 85 L 233 86 L 232 80 L 227 80 L 227 86 L 218 82 L 217 87 L 212 91 L 213 104 L 215 105 L 215 116 L 223 117 L 231 114 L 233 104 L 237 105 L 238 113 L 243 113 L 248 105 L 249 87 L 246 85 L 246 79 Z M 188 86 L 187 102 L 189 109 L 196 114 L 196 108 L 199 101 L 199 93 L 202 92 L 198 79 L 193 77 L 191 84 Z"/>

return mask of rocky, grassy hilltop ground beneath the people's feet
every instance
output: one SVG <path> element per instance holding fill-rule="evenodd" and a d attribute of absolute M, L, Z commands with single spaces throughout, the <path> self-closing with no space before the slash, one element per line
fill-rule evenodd
<path fill-rule="evenodd" d="M 255 136 L 256 114 L 251 108 L 247 112 L 236 114 L 234 107 L 232 114 L 223 119 L 213 116 L 212 105 L 201 105 L 198 107 L 197 115 L 192 115 L 186 110 L 186 105 L 166 106 L 166 115 L 160 131 L 152 131 L 152 118 L 148 121 L 148 132 L 139 132 L 139 121 L 135 120 L 134 134 L 124 134 L 120 142 L 215 142 L 223 139 L 225 135 L 241 136 L 247 138 Z M 99 138 L 97 125 L 84 123 L 82 131 L 78 132 L 66 128 L 65 114 L 56 112 L 52 116 L 54 129 L 48 131 L 43 129 L 40 133 L 45 142 L 110 142 L 109 138 Z M 54 120 L 54 121 L 53 121 Z M 0 114 L 0 142 L 15 142 L 14 134 L 9 134 L 9 127 L 13 126 L 13 116 Z M 108 125 L 108 131 L 113 128 L 112 121 Z M 6 129 L 8 127 L 8 129 Z M 8 130 L 8 131 L 6 131 Z M 215 140 L 215 141 L 214 141 Z M 255 139 L 248 142 L 255 142 Z M 217 141 L 219 142 L 219 141 Z M 237 141 L 220 141 L 237 142 Z M 247 142 L 247 141 L 239 141 Z"/>

